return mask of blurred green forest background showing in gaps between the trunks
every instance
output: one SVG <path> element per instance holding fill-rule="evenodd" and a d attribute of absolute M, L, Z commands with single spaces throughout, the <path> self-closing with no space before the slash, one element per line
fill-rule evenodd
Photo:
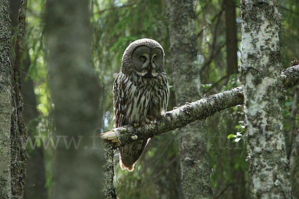
<path fill-rule="evenodd" d="M 239 5 L 239 0 L 193 1 L 198 49 L 197 65 L 200 68 L 204 95 L 240 85 L 236 69 L 241 55 Z M 283 68 L 290 67 L 291 61 L 299 57 L 298 6 L 299 0 L 280 0 L 281 13 L 284 17 L 280 32 Z M 26 89 L 26 93 L 32 94 L 33 99 L 24 104 L 25 123 L 28 135 L 51 136 L 54 133 L 52 119 L 54 103 L 46 61 L 48 50 L 45 45 L 44 29 L 45 1 L 28 0 L 27 7 L 27 36 L 24 42 L 27 50 L 23 58 L 27 62 L 23 62 L 22 88 L 25 89 L 27 88 L 25 84 L 30 84 L 30 89 Z M 170 85 L 168 110 L 175 106 L 165 9 L 165 0 L 89 1 L 91 13 L 89 28 L 92 33 L 90 60 L 102 88 L 99 104 L 99 114 L 103 115 L 99 124 L 102 126 L 101 132 L 113 128 L 113 81 L 120 71 L 124 50 L 136 39 L 151 38 L 164 48 L 165 70 Z M 288 139 L 290 126 L 292 131 L 297 132 L 298 129 L 298 114 L 295 115 L 295 119 L 294 116 L 291 117 L 294 93 L 295 89 L 286 91 L 287 98 L 283 109 L 288 147 L 292 147 L 293 144 L 293 141 Z M 24 101 L 25 99 L 24 95 Z M 32 109 L 34 114 L 26 116 L 26 112 L 29 113 L 26 109 L 30 107 L 36 108 Z M 253 198 L 251 180 L 247 172 L 244 117 L 243 107 L 237 106 L 206 120 L 207 150 L 212 171 L 210 178 L 216 199 Z M 35 186 L 37 191 L 45 193 L 43 189 L 46 188 L 48 194 L 40 198 L 51 198 L 54 186 L 55 151 L 52 147 L 45 150 L 42 139 L 37 139 L 39 150 L 37 156 L 34 155 L 37 151 L 30 150 L 30 145 L 28 147 L 32 160 L 28 160 L 27 182 L 30 183 L 25 185 L 25 190 Z M 33 168 L 38 168 L 39 172 L 30 170 L 30 161 L 33 162 Z M 134 172 L 121 171 L 118 165 L 118 152 L 115 155 L 115 163 L 115 186 L 120 199 L 182 198 L 176 131 L 152 138 Z M 38 180 L 43 174 L 45 178 Z M 298 187 L 298 169 L 294 176 L 294 186 Z M 41 182 L 45 184 L 38 186 L 37 183 Z M 293 190 L 298 192 L 299 189 Z M 298 196 L 298 193 L 296 194 Z"/>

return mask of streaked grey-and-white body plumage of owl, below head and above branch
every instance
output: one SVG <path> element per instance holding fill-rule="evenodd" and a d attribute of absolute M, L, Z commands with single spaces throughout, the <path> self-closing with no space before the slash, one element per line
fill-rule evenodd
<path fill-rule="evenodd" d="M 125 117 L 124 123 L 141 123 L 150 115 L 157 118 L 166 112 L 169 87 L 166 74 L 155 78 L 128 77 L 120 73 L 114 85 L 115 114 Z M 117 115 L 115 115 L 116 117 Z"/>

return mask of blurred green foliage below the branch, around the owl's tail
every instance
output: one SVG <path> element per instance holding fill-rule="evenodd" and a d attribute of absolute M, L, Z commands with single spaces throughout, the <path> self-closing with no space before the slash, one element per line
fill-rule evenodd
<path fill-rule="evenodd" d="M 119 198 L 159 199 L 180 195 L 175 138 L 175 133 L 169 132 L 151 139 L 134 172 L 121 171 L 118 164 L 116 165 L 116 189 Z"/>

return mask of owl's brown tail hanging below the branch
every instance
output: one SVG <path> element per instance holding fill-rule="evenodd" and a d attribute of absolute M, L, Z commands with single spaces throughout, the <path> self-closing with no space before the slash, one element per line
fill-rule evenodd
<path fill-rule="evenodd" d="M 122 170 L 134 171 L 134 165 L 149 143 L 149 139 L 139 140 L 120 147 L 120 167 Z"/>

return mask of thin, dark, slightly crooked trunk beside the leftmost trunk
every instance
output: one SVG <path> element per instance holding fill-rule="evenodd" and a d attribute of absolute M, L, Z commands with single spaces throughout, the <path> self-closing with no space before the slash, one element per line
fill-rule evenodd
<path fill-rule="evenodd" d="M 21 95 L 20 65 L 23 55 L 23 41 L 25 36 L 25 12 L 27 0 L 20 1 L 17 18 L 17 30 L 14 43 L 14 61 L 12 67 L 12 107 L 11 113 L 11 194 L 13 199 L 22 199 L 27 168 L 27 137 L 23 120 L 23 99 Z"/>

